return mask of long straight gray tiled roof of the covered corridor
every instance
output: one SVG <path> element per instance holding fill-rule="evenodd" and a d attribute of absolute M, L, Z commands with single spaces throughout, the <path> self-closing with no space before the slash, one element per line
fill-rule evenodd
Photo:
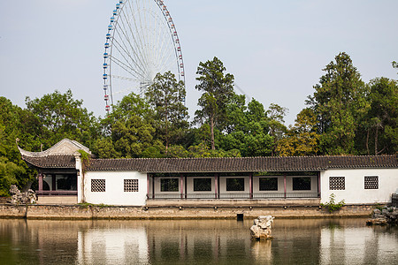
<path fill-rule="evenodd" d="M 237 158 L 92 159 L 88 170 L 142 172 L 310 171 L 354 168 L 398 168 L 396 155 L 291 156 Z"/>

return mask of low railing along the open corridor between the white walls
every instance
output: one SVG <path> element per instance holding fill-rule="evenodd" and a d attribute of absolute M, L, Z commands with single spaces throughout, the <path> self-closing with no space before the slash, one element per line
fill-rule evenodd
<path fill-rule="evenodd" d="M 250 196 L 251 195 L 251 196 Z M 261 199 L 295 199 L 295 198 L 318 198 L 318 193 L 219 193 L 217 198 L 215 193 L 149 193 L 149 200 L 167 200 L 167 199 L 187 199 L 187 200 L 261 200 Z"/>

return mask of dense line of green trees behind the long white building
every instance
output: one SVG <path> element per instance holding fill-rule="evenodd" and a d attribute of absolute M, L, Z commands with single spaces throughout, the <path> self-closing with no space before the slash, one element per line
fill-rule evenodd
<path fill-rule="evenodd" d="M 235 94 L 233 74 L 217 57 L 197 68 L 202 95 L 192 118 L 184 84 L 171 72 L 157 74 L 142 95 L 126 95 L 107 117 L 95 117 L 70 90 L 27 97 L 25 109 L 0 97 L 0 195 L 11 184 L 34 181 L 17 139 L 21 148 L 40 151 L 69 138 L 101 158 L 396 154 L 397 80 L 366 84 L 346 53 L 323 71 L 308 107 L 289 127 L 286 108 L 272 103 L 265 109 Z"/>

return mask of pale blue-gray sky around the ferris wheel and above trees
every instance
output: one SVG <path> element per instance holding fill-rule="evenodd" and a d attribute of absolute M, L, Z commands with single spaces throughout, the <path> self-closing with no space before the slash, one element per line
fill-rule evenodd
<path fill-rule="evenodd" d="M 151 1 L 151 0 L 148 0 Z M 71 88 L 104 116 L 103 43 L 114 0 L 1 0 L 0 95 L 25 97 Z M 289 109 L 293 124 L 322 69 L 341 51 L 365 82 L 398 79 L 396 0 L 165 0 L 180 37 L 187 106 L 194 116 L 199 62 L 218 57 L 236 84 L 265 108 Z M 237 91 L 239 93 L 239 91 Z"/>

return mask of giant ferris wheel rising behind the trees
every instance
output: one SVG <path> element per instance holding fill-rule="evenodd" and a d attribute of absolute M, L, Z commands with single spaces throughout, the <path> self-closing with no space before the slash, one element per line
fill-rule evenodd
<path fill-rule="evenodd" d="M 103 53 L 105 110 L 123 95 L 142 93 L 157 73 L 172 72 L 185 84 L 180 39 L 162 0 L 118 1 Z"/>

